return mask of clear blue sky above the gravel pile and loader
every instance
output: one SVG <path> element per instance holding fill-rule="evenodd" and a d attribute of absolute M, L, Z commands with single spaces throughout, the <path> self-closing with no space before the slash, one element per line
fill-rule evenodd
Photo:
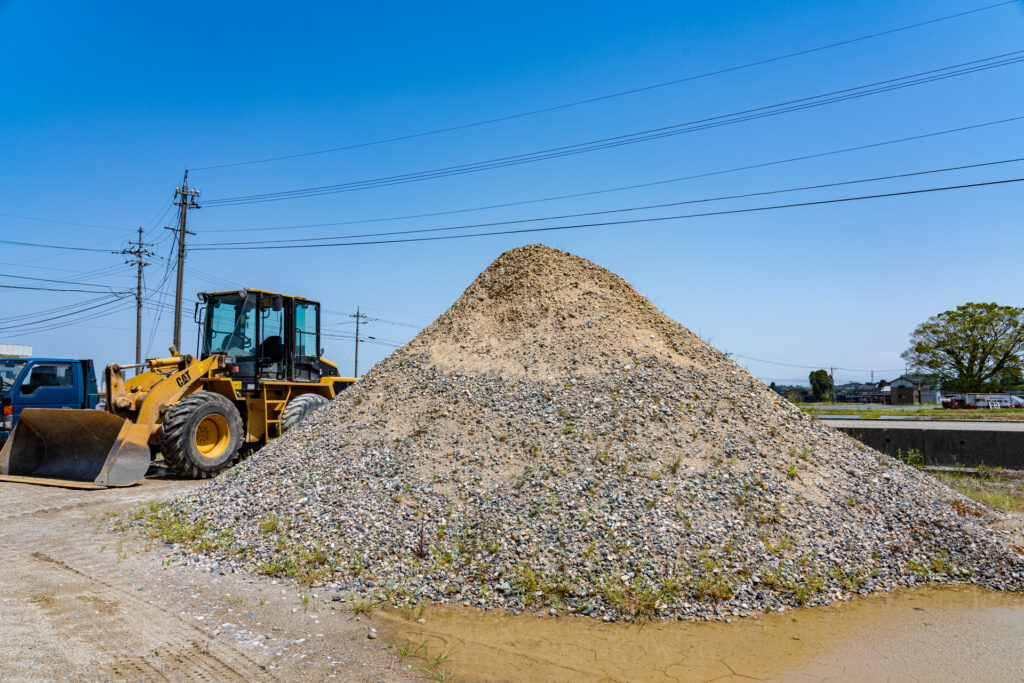
<path fill-rule="evenodd" d="M 118 251 L 161 229 L 185 168 L 345 146 L 757 61 L 982 7 L 883 4 L 146 3 L 0 1 L 0 239 Z M 658 128 L 1024 49 L 1020 2 L 675 86 L 450 133 L 272 163 L 194 170 L 200 204 L 472 163 Z M 249 229 L 444 212 L 657 181 L 1024 116 L 1024 65 L 756 121 L 532 164 L 387 187 L 189 214 L 197 247 L 602 211 L 899 174 L 1022 155 L 1024 121 L 628 191 L 432 218 Z M 1024 164 L 736 200 L 714 208 L 898 191 L 1024 176 Z M 766 381 L 812 366 L 838 381 L 892 377 L 908 333 L 966 301 L 1021 304 L 1020 184 L 786 211 L 412 244 L 195 251 L 194 294 L 279 289 L 321 300 L 326 327 L 403 342 L 503 251 L 544 242 L 626 278 L 669 315 Z M 697 205 L 695 210 L 710 206 Z M 675 213 L 686 212 L 683 210 Z M 673 213 L 638 212 L 638 216 Z M 4 215 L 11 214 L 11 215 Z M 632 214 L 631 214 L 632 215 Z M 39 220 L 45 219 L 45 220 Z M 70 225 L 62 222 L 84 223 Z M 564 221 L 561 221 L 564 222 Z M 558 224 L 559 221 L 541 223 Z M 247 228 L 238 231 L 237 228 Z M 171 341 L 171 301 L 146 268 L 144 351 Z M 133 287 L 122 257 L 0 244 L 11 278 Z M 173 284 L 173 276 L 171 278 Z M 94 294 L 3 290 L 0 342 L 128 362 L 134 304 L 36 324 Z M 82 306 L 84 307 L 84 305 Z M 61 308 L 61 311 L 73 310 Z M 25 316 L 25 317 L 18 317 Z M 16 319 L 14 319 L 16 318 Z M 385 322 L 386 321 L 386 322 Z M 20 328 L 14 324 L 30 325 Z M 401 325 L 393 325 L 398 323 Z M 60 325 L 57 329 L 43 328 Z M 329 340 L 343 371 L 351 342 Z M 389 346 L 360 345 L 360 370 Z M 763 358 L 808 368 L 790 368 Z M 856 372 L 854 372 L 856 371 Z M 890 372 L 882 372 L 890 371 Z"/>

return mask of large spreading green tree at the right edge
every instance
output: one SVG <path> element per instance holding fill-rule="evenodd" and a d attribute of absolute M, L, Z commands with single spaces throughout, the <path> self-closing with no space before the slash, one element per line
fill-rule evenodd
<path fill-rule="evenodd" d="M 1024 308 L 966 303 L 933 315 L 902 353 L 913 369 L 952 391 L 984 391 L 1020 377 Z"/>

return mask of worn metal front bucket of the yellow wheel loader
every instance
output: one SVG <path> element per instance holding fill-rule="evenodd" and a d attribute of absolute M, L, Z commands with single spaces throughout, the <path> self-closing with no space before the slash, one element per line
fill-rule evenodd
<path fill-rule="evenodd" d="M 0 451 L 0 480 L 130 486 L 150 468 L 150 430 L 103 411 L 30 409 Z"/>

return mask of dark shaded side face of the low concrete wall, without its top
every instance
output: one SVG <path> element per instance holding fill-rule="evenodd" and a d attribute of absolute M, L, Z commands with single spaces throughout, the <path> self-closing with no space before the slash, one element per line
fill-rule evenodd
<path fill-rule="evenodd" d="M 985 464 L 1006 469 L 1024 469 L 1024 432 L 992 429 L 907 429 L 865 426 L 850 420 L 849 426 L 836 428 L 877 451 L 896 455 L 916 450 L 926 465 L 977 467 Z M 874 421 L 872 421 L 874 422 Z M 973 426 L 973 425 L 972 425 Z"/>

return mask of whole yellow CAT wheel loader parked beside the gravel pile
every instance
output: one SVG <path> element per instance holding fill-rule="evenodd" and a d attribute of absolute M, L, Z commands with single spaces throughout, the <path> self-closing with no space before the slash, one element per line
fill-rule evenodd
<path fill-rule="evenodd" d="M 210 477 L 355 382 L 321 357 L 318 303 L 263 290 L 199 298 L 199 357 L 171 347 L 167 358 L 108 366 L 100 410 L 24 410 L 0 479 L 128 486 L 158 453 L 181 475 Z"/>

